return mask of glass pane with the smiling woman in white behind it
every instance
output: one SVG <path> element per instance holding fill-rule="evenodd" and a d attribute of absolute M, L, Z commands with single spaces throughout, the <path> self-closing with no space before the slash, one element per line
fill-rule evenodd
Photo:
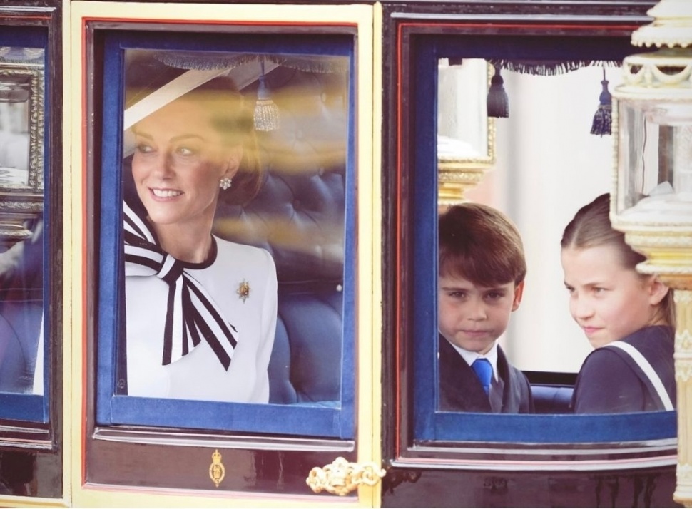
<path fill-rule="evenodd" d="M 349 59 L 126 63 L 116 392 L 337 405 Z"/>

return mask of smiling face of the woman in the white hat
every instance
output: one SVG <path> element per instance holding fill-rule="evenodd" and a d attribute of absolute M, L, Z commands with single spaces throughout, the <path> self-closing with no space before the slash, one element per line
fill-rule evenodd
<path fill-rule="evenodd" d="M 133 127 L 132 175 L 154 225 L 197 227 L 213 220 L 219 181 L 233 178 L 240 148 L 223 145 L 210 113 L 180 98 Z"/>

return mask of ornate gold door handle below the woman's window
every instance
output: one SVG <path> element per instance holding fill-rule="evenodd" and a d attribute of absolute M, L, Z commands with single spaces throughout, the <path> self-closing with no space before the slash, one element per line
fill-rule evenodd
<path fill-rule="evenodd" d="M 344 496 L 360 485 L 376 485 L 385 477 L 385 473 L 385 469 L 375 463 L 352 463 L 339 457 L 330 465 L 312 468 L 305 482 L 315 493 L 324 490 L 332 495 Z"/>

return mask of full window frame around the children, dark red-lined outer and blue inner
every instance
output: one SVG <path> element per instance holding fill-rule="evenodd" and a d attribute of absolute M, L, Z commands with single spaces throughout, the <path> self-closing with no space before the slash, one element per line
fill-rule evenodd
<path fill-rule="evenodd" d="M 647 20 L 633 16 L 628 24 L 555 16 L 536 21 L 529 16 L 447 13 L 433 18 L 428 13 L 395 13 L 388 27 L 396 41 L 396 65 L 390 72 L 396 92 L 389 121 L 397 135 L 388 153 L 397 168 L 391 185 L 397 228 L 395 238 L 390 238 L 397 253 L 390 260 L 397 274 L 397 309 L 392 311 L 395 363 L 390 374 L 397 404 L 389 416 L 396 431 L 387 443 L 393 464 L 487 468 L 489 461 L 501 458 L 525 469 L 548 459 L 553 463 L 539 468 L 589 469 L 595 458 L 636 455 L 655 458 L 650 461 L 658 464 L 675 463 L 675 411 L 575 416 L 437 410 L 437 264 L 421 262 L 437 259 L 438 61 L 549 60 L 555 59 L 556 51 L 564 60 L 588 60 L 589 55 L 594 60 L 621 60 L 631 53 L 631 31 Z M 550 26 L 558 22 L 560 29 Z M 579 41 L 579 50 L 572 52 L 569 40 Z"/>

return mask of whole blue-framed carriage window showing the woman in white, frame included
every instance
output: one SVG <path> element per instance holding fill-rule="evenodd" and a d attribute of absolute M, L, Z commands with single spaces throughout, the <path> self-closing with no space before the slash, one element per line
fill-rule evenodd
<path fill-rule="evenodd" d="M 138 41 L 106 42 L 97 426 L 352 438 L 352 38 Z"/>

